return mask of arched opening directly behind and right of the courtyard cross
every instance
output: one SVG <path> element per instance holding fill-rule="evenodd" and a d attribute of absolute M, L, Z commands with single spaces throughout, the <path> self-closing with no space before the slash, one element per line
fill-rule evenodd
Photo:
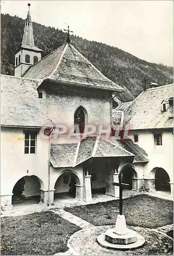
<path fill-rule="evenodd" d="M 135 170 L 135 167 L 131 164 L 124 165 L 119 171 L 119 176 L 121 175 L 121 173 L 122 173 L 122 182 L 129 184 L 128 189 L 137 190 L 138 174 Z"/>

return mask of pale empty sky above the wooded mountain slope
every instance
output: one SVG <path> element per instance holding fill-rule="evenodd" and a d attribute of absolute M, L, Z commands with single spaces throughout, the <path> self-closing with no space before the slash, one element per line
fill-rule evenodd
<path fill-rule="evenodd" d="M 173 66 L 173 1 L 1 1 L 1 13 L 103 42 L 149 62 Z"/>

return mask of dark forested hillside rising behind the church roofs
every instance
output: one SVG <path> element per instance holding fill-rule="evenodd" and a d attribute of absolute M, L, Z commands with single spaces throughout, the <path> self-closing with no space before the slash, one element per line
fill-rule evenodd
<path fill-rule="evenodd" d="M 1 73 L 14 75 L 14 55 L 20 49 L 25 20 L 9 14 L 1 14 Z M 33 23 L 35 45 L 46 56 L 66 42 L 62 30 Z M 126 89 L 118 98 L 125 102 L 133 100 L 143 90 L 144 76 L 148 83 L 160 85 L 172 82 L 172 67 L 141 60 L 130 53 L 101 42 L 70 36 L 71 44 L 79 50 L 105 76 Z M 142 49 L 143 51 L 143 49 Z M 159 53 L 160 54 L 160 53 Z"/>

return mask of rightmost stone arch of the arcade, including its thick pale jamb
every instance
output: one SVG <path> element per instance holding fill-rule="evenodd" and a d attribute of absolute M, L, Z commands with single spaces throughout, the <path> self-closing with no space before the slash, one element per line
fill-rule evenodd
<path fill-rule="evenodd" d="M 155 190 L 170 191 L 170 177 L 165 169 L 155 167 L 151 170 L 150 179 Z"/>

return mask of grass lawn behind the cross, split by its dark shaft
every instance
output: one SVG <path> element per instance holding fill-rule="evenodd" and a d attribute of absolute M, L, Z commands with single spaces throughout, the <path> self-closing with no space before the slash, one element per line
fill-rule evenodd
<path fill-rule="evenodd" d="M 119 200 L 64 209 L 96 226 L 114 225 Z M 173 223 L 173 202 L 138 195 L 123 199 L 123 214 L 130 226 L 156 228 Z"/>

